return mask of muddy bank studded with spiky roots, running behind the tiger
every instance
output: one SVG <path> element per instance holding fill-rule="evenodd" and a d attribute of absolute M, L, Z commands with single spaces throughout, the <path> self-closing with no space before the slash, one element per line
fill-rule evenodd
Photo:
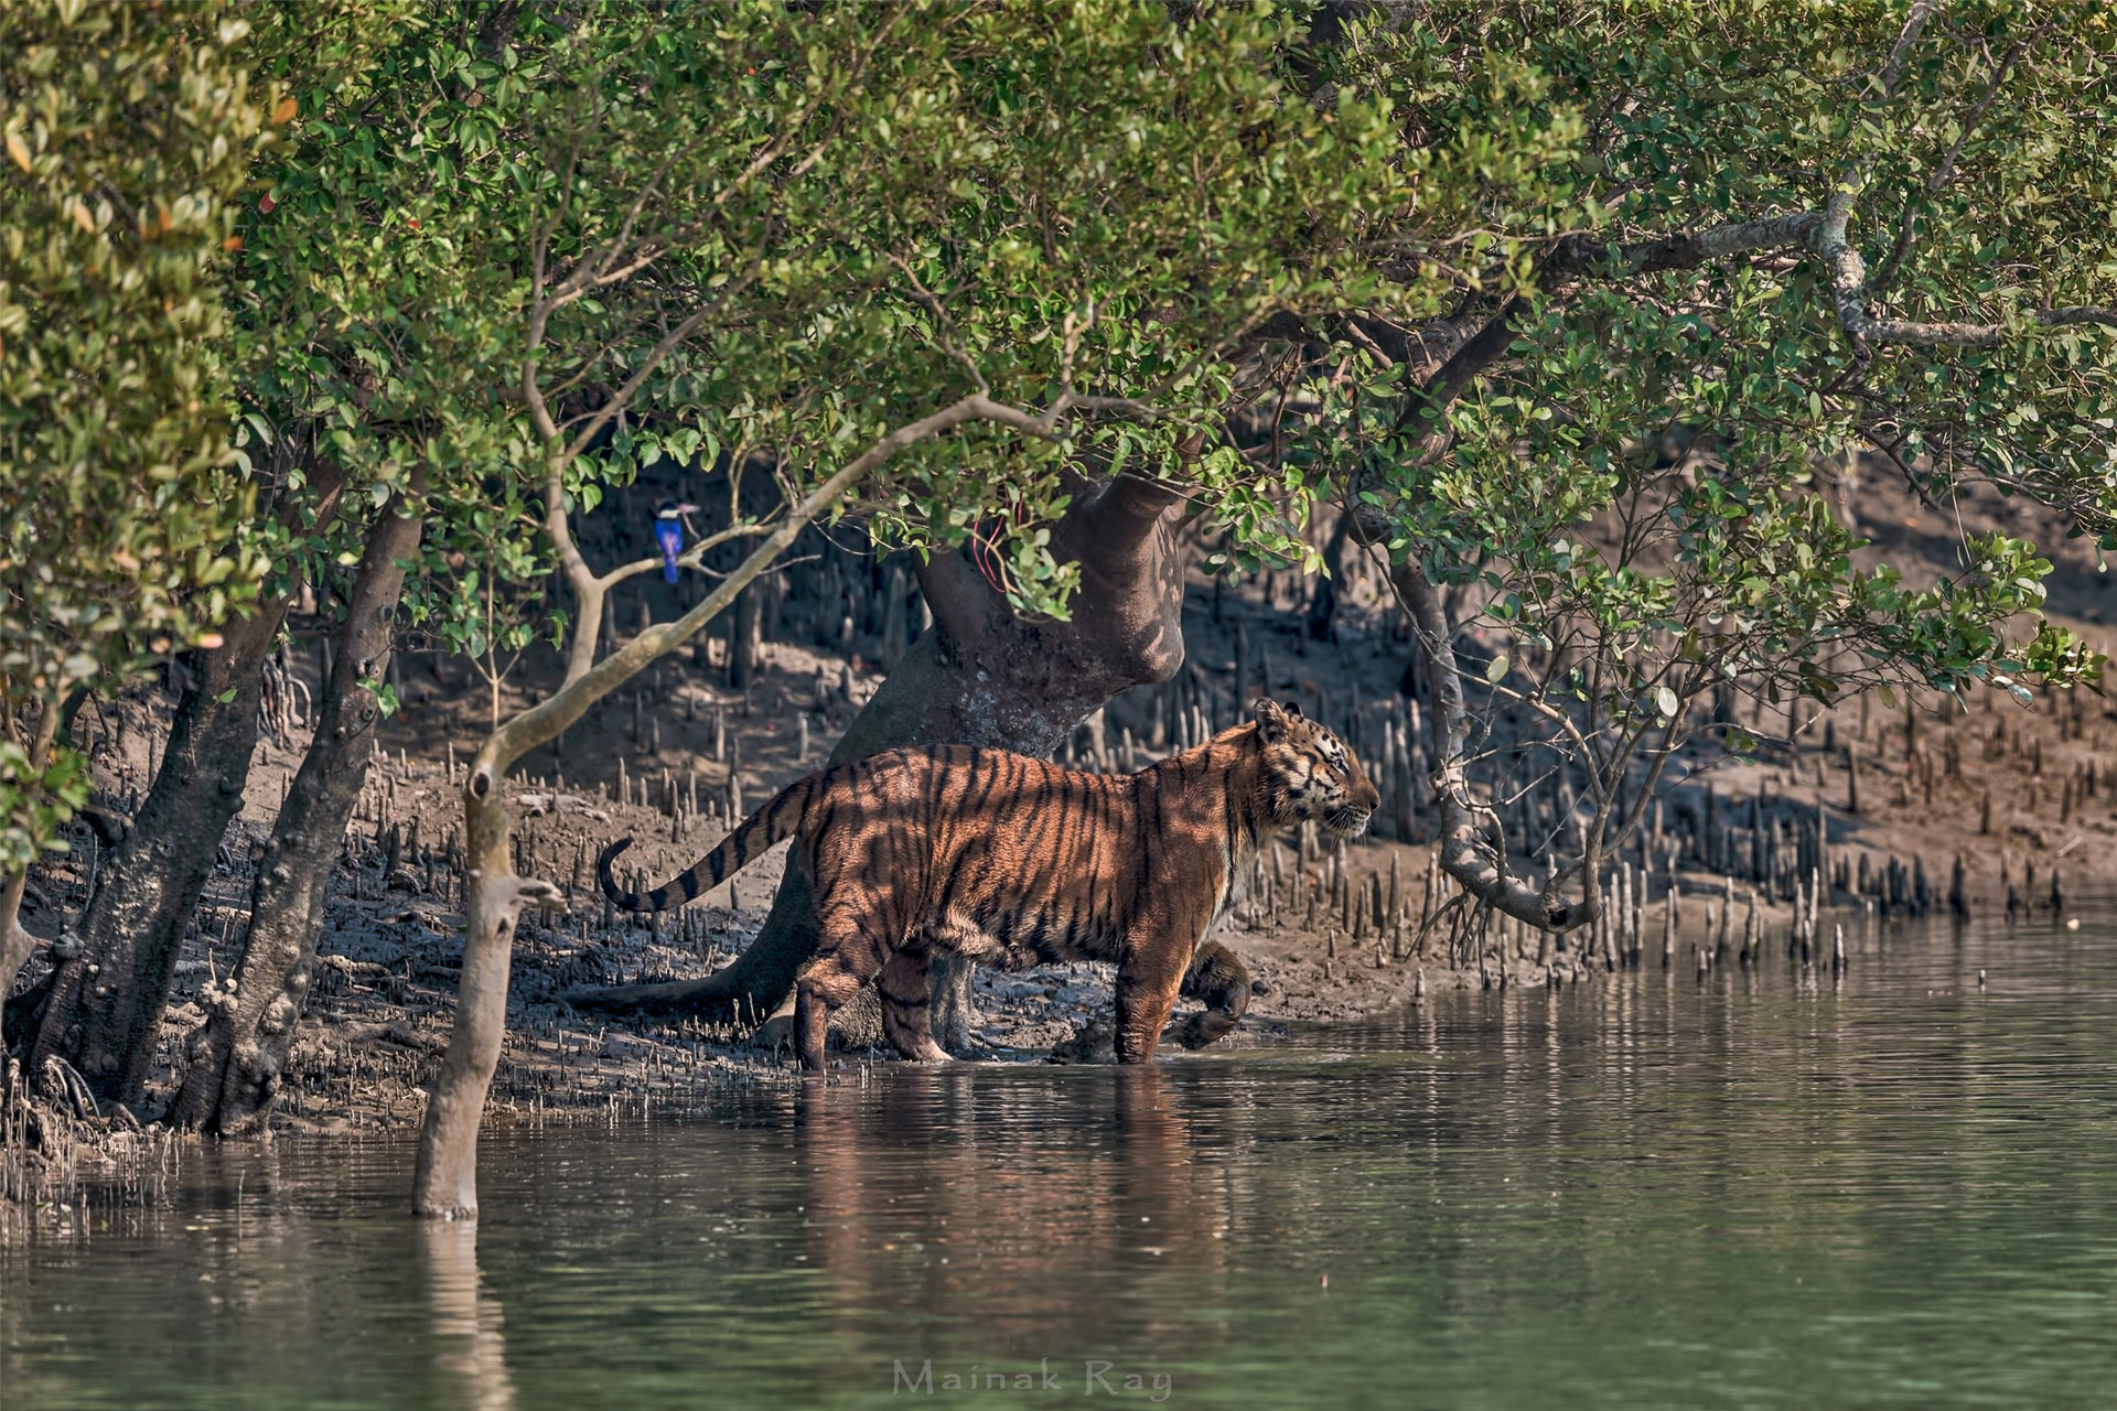
<path fill-rule="evenodd" d="M 1137 768 L 1200 732 L 1232 723 L 1245 696 L 1270 690 L 1336 723 L 1385 789 L 1378 831 L 1344 848 L 1277 840 L 1249 878 L 1251 895 L 1222 929 L 1255 984 L 1249 1018 L 1224 1043 L 1270 1043 L 1293 1022 L 1332 1022 L 1416 1003 L 1423 992 L 1579 984 L 1626 965 L 1689 969 L 1704 954 L 1738 960 L 1749 910 L 1757 931 L 1783 935 L 1804 888 L 1804 829 L 1821 829 L 1840 914 L 1888 905 L 1890 880 L 1929 908 L 1946 905 L 1956 853 L 1962 903 L 2049 908 L 2085 891 L 2117 861 L 2106 762 L 2117 713 L 2102 700 L 2020 709 L 1979 700 L 1969 713 L 1937 702 L 1876 700 L 1823 713 L 1747 711 L 1768 743 L 1751 762 L 1698 751 L 1626 859 L 1634 869 L 1630 922 L 1554 939 L 1512 924 L 1476 924 L 1435 886 L 1423 846 L 1427 810 L 1418 709 L 1401 694 L 1408 639 L 1380 584 L 1349 573 L 1323 637 L 1310 633 L 1308 584 L 1266 578 L 1247 592 L 1198 582 L 1186 609 L 1190 662 L 1166 688 L 1114 702 L 1075 734 L 1080 768 Z M 2094 630 L 2094 624 L 2083 624 Z M 612 914 L 595 891 L 593 859 L 635 838 L 627 865 L 652 880 L 688 867 L 730 819 L 815 768 L 881 681 L 840 643 L 771 641 L 743 690 L 726 685 L 726 641 L 701 641 L 644 675 L 510 781 L 521 817 L 517 872 L 559 882 L 567 905 L 527 914 L 517 941 L 510 1037 L 493 1087 L 500 1121 L 612 1104 L 696 1106 L 730 1083 L 779 1081 L 792 1064 L 783 1026 L 705 1026 L 578 1013 L 576 986 L 688 979 L 735 956 L 762 924 L 779 882 L 773 855 L 684 912 Z M 459 965 L 459 764 L 485 723 L 485 694 L 459 662 L 404 654 L 402 711 L 379 736 L 379 759 L 330 882 L 320 969 L 292 1051 L 275 1123 L 282 1130 L 406 1130 L 447 1041 Z M 506 704 L 550 681 L 536 660 L 504 688 Z M 296 656 L 292 671 L 303 671 Z M 159 702 L 91 707 L 99 783 L 123 802 L 144 787 L 157 749 Z M 260 747 L 250 793 L 220 846 L 214 882 L 178 965 L 150 1079 L 174 1092 L 182 1037 L 201 1020 L 201 986 L 239 954 L 250 857 L 298 764 L 298 728 Z M 1711 793 L 1711 798 L 1708 798 Z M 1888 861 L 1899 859 L 1899 867 Z M 1520 857 L 1524 872 L 1537 859 Z M 47 937 L 78 908 L 97 865 L 78 853 L 40 867 L 30 924 Z M 1681 924 L 1670 933 L 1670 878 Z M 1740 914 L 1727 916 L 1730 886 Z M 1755 901 L 1753 901 L 1755 893 Z M 1711 908 L 1711 914 L 1708 914 Z M 1711 931 L 1708 931 L 1711 927 Z M 1732 933 L 1730 943 L 1719 937 Z M 1823 922 L 1819 946 L 1829 935 Z M 25 984 L 36 982 L 32 963 Z M 978 1053 L 1033 1060 L 1078 1047 L 1075 1034 L 1109 1005 L 1109 967 L 1065 965 L 976 979 Z M 766 1015 L 756 1015 L 764 1020 Z M 1086 1045 L 1090 1056 L 1094 1045 Z M 881 1062 L 855 1049 L 860 1062 Z M 148 1117 L 152 1113 L 146 1113 Z"/>

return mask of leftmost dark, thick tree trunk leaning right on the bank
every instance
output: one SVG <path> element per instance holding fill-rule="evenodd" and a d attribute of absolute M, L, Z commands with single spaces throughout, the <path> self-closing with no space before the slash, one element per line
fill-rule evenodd
<path fill-rule="evenodd" d="M 140 1100 L 184 931 L 243 806 L 265 658 L 286 607 L 260 603 L 222 628 L 218 647 L 191 654 L 161 772 L 80 916 L 78 950 L 53 975 L 32 1075 L 64 1058 L 97 1098 Z"/>

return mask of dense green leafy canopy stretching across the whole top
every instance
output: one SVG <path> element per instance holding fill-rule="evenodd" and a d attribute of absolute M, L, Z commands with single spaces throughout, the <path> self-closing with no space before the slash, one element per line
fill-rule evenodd
<path fill-rule="evenodd" d="M 2037 546 L 1912 582 L 1823 493 L 1880 463 L 2117 544 L 2087 0 L 51 0 L 0 40 L 17 863 L 78 795 L 38 702 L 343 571 L 385 501 L 415 611 L 521 643 L 495 584 L 565 565 L 584 611 L 629 569 L 569 518 L 656 457 L 783 510 L 887 442 L 832 512 L 1010 525 L 1054 616 L 1069 474 L 1181 484 L 1238 563 L 1313 565 L 1340 501 L 1605 774 L 1727 688 L 2098 671 Z M 730 489 L 728 533 L 781 510 Z"/>

